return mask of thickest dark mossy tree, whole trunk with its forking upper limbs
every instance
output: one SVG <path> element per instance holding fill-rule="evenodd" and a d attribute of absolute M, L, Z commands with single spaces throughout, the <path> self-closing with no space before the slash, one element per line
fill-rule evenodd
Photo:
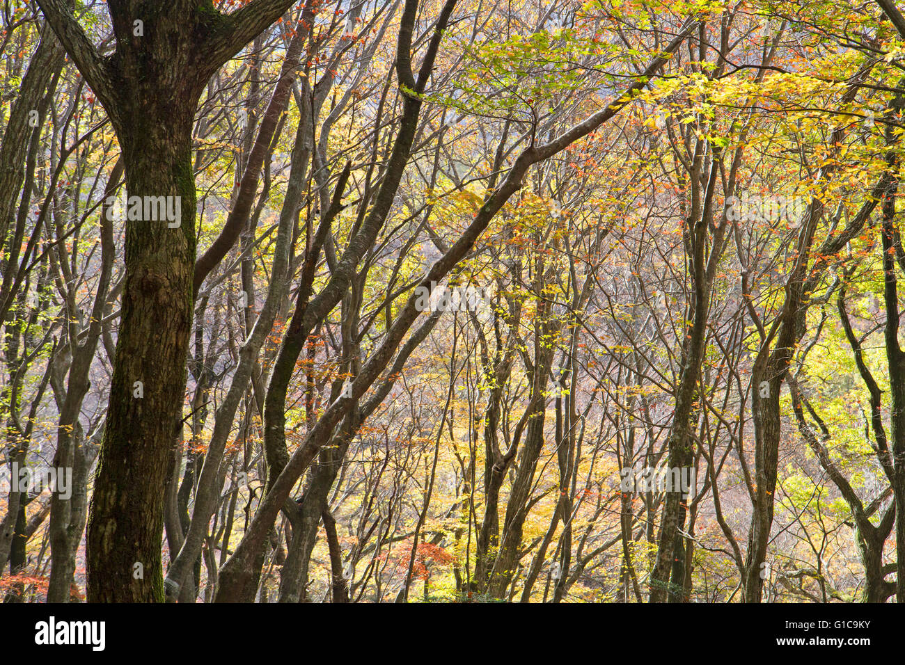
<path fill-rule="evenodd" d="M 195 107 L 214 71 L 292 0 L 254 0 L 232 14 L 209 1 L 108 0 L 116 52 L 106 58 L 69 3 L 39 4 L 110 115 L 129 196 L 176 197 L 174 213 L 178 203 L 178 219 L 125 223 L 122 319 L 87 537 L 90 601 L 162 602 L 164 488 L 180 429 L 193 285 L 229 249 L 215 243 L 195 275 Z"/>

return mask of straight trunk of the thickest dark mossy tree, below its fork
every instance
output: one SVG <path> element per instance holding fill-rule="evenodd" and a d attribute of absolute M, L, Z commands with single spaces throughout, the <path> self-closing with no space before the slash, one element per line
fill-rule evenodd
<path fill-rule="evenodd" d="M 195 266 L 195 100 L 173 98 L 168 109 L 136 109 L 120 136 L 129 196 L 177 196 L 181 219 L 177 228 L 126 222 L 122 322 L 88 528 L 93 602 L 164 600 L 164 489 L 186 387 Z"/>

